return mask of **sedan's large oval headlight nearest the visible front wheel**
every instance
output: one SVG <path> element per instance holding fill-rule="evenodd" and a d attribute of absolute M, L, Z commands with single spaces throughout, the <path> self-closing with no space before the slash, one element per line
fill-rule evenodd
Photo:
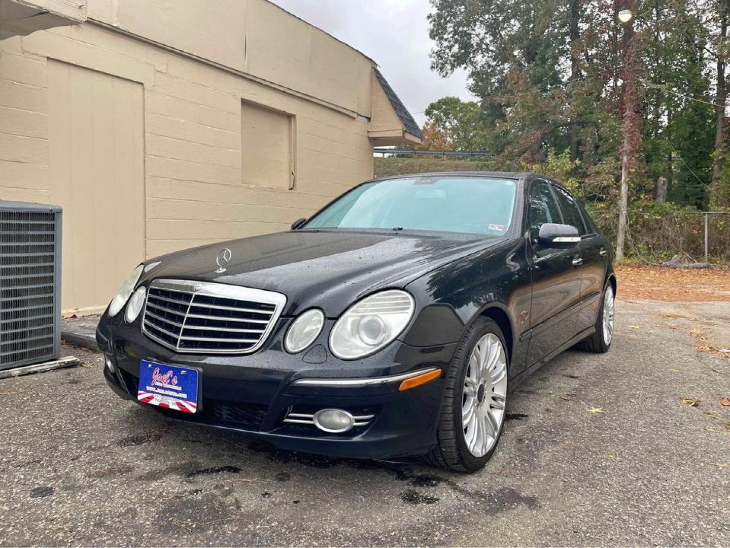
<path fill-rule="evenodd" d="M 329 335 L 330 350 L 342 360 L 377 352 L 401 334 L 413 317 L 415 303 L 405 291 L 375 293 L 350 306 Z"/>

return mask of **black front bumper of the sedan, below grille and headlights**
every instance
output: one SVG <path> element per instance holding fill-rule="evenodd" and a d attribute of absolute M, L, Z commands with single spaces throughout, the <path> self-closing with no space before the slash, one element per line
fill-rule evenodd
<path fill-rule="evenodd" d="M 338 360 L 326 347 L 328 322 L 320 334 L 323 340 L 315 341 L 307 352 L 291 355 L 282 347 L 291 320 L 281 318 L 264 347 L 253 354 L 181 354 L 143 335 L 139 320 L 126 324 L 121 316 L 104 314 L 96 333 L 99 349 L 115 366 L 113 372 L 105 367 L 104 377 L 121 398 L 137 401 L 142 359 L 201 370 L 199 412 L 187 414 L 140 403 L 172 420 L 239 431 L 283 449 L 348 458 L 423 455 L 436 444 L 445 376 L 456 344 L 411 347 L 394 341 L 369 358 Z M 441 377 L 403 392 L 399 382 L 330 382 L 383 379 L 434 367 L 442 369 Z M 307 382 L 296 382 L 303 379 Z M 342 434 L 284 422 L 290 412 L 312 414 L 326 408 L 374 417 Z"/>

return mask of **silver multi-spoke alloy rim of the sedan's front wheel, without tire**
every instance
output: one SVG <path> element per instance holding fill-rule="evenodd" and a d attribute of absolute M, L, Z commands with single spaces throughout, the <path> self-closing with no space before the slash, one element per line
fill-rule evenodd
<path fill-rule="evenodd" d="M 507 356 L 499 337 L 487 333 L 469 357 L 461 404 L 464 440 L 475 457 L 486 455 L 499 439 L 506 401 Z"/>

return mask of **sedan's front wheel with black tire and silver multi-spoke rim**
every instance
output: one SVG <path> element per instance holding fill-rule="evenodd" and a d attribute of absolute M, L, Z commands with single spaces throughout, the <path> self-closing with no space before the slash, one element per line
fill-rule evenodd
<path fill-rule="evenodd" d="M 499 349 L 495 350 L 497 343 Z M 473 472 L 491 458 L 504 429 L 510 359 L 506 349 L 502 331 L 487 317 L 477 318 L 466 330 L 449 366 L 437 445 L 424 458 L 426 462 L 451 471 Z M 477 361 L 472 361 L 472 353 Z M 485 357 L 480 360 L 480 356 Z M 483 365 L 475 368 L 479 361 Z"/>

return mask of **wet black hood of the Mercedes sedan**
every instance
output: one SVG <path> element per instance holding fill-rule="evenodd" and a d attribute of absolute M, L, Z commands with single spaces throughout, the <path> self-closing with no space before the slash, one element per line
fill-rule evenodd
<path fill-rule="evenodd" d="M 499 242 L 502 239 L 464 235 L 288 231 L 151 259 L 142 279 L 194 279 L 276 291 L 287 296 L 285 315 L 318 306 L 327 317 L 337 317 L 373 290 L 404 287 L 426 272 Z M 220 272 L 216 259 L 226 248 L 231 258 Z"/>

